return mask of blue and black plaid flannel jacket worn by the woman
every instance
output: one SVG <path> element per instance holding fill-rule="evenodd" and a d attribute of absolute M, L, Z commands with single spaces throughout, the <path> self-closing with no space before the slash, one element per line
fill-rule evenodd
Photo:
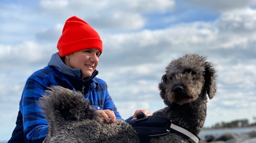
<path fill-rule="evenodd" d="M 28 78 L 20 101 L 24 134 L 28 140 L 43 138 L 47 135 L 49 126 L 44 111 L 39 108 L 37 102 L 42 97 L 42 93 L 51 85 L 75 90 L 67 78 L 52 66 L 38 70 Z M 84 96 L 95 110 L 109 109 L 115 112 L 117 119 L 122 119 L 108 94 L 106 83 L 100 78 L 94 77 L 91 80 L 88 90 L 84 91 Z"/>

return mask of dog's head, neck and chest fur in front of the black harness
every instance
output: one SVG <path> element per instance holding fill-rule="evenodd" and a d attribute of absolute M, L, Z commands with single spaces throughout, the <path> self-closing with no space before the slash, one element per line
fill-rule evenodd
<path fill-rule="evenodd" d="M 212 99 L 216 93 L 216 72 L 205 57 L 185 55 L 173 60 L 166 67 L 166 74 L 159 84 L 160 96 L 166 108 L 153 113 L 171 119 L 198 135 L 206 118 L 207 96 Z M 152 138 L 152 142 L 188 143 L 181 136 L 171 133 Z"/>

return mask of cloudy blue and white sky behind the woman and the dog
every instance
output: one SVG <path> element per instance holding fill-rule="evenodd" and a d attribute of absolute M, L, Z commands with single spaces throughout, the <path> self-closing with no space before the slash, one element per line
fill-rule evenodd
<path fill-rule="evenodd" d="M 121 116 L 165 107 L 158 84 L 185 54 L 217 71 L 205 127 L 256 116 L 255 0 L 0 0 L 0 141 L 9 140 L 27 78 L 58 52 L 71 16 L 101 36 L 97 77 Z"/>

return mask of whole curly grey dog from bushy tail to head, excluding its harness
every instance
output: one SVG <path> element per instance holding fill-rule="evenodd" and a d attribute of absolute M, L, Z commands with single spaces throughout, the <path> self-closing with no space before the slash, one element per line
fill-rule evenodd
<path fill-rule="evenodd" d="M 159 84 L 166 108 L 153 113 L 198 135 L 206 118 L 207 96 L 216 92 L 216 74 L 210 62 L 198 55 L 185 55 L 166 67 Z M 49 133 L 44 143 L 136 143 L 137 132 L 124 120 L 104 123 L 80 92 L 50 87 L 39 106 L 45 111 Z M 150 138 L 150 142 L 189 143 L 175 133 Z"/>

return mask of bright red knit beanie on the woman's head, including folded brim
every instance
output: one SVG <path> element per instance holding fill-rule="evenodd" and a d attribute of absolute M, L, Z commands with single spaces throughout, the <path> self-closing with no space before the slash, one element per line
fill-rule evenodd
<path fill-rule="evenodd" d="M 66 21 L 57 48 L 60 57 L 88 48 L 97 48 L 100 52 L 103 50 L 98 32 L 76 16 Z"/>

